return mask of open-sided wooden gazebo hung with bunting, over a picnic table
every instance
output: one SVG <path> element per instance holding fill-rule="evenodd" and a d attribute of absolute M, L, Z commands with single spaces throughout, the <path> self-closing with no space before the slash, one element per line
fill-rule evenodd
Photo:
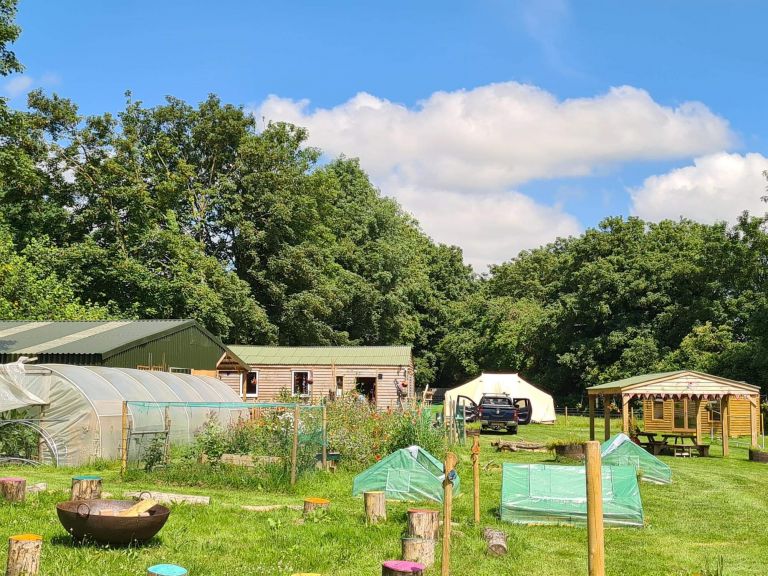
<path fill-rule="evenodd" d="M 720 376 L 692 370 L 633 376 L 587 388 L 589 396 L 589 437 L 595 439 L 595 405 L 602 398 L 605 439 L 611 435 L 611 404 L 622 415 L 622 431 L 629 434 L 629 402 L 643 401 L 645 430 L 649 432 L 695 433 L 701 444 L 705 431 L 719 432 L 723 455 L 728 439 L 751 436 L 757 444 L 760 418 L 760 388 Z"/>

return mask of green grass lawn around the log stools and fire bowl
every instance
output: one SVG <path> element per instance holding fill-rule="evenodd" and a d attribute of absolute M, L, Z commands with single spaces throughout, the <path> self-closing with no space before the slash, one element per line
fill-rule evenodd
<path fill-rule="evenodd" d="M 518 438 L 547 441 L 579 436 L 586 439 L 583 418 L 569 427 L 521 427 Z M 512 438 L 512 437 L 510 437 Z M 496 453 L 493 436 L 483 436 L 481 463 L 482 521 L 473 525 L 469 452 L 458 447 L 459 474 L 464 492 L 454 501 L 456 528 L 452 546 L 454 575 L 567 575 L 587 573 L 587 535 L 583 528 L 502 524 L 497 519 L 502 462 L 551 460 L 548 454 Z M 713 448 L 717 455 L 719 450 Z M 672 467 L 673 484 L 642 483 L 646 526 L 606 531 L 607 573 L 612 575 L 690 575 L 714 567 L 720 557 L 724 574 L 765 574 L 768 571 L 768 466 L 748 462 L 746 450 L 731 457 L 664 458 Z M 94 472 L 79 469 L 78 473 Z M 126 490 L 154 488 L 210 495 L 210 506 L 176 505 L 158 537 L 136 548 L 110 549 L 74 545 L 56 518 L 55 504 L 66 499 L 71 469 L 4 468 L 2 475 L 23 475 L 29 483 L 47 482 L 49 491 L 29 495 L 23 505 L 0 504 L 3 540 L 34 532 L 45 540 L 42 573 L 58 575 L 142 575 L 160 562 L 185 566 L 192 576 L 290 575 L 318 572 L 330 575 L 378 575 L 383 560 L 400 554 L 408 504 L 388 503 L 389 518 L 368 527 L 360 498 L 351 493 L 353 474 L 316 474 L 301 480 L 294 493 L 214 490 L 163 486 L 147 481 L 124 483 L 116 467 L 98 470 L 104 489 L 118 497 Z M 281 510 L 246 512 L 240 504 L 298 504 L 306 496 L 332 500 L 325 517 L 302 522 L 301 513 Z M 495 526 L 509 535 L 509 554 L 485 555 L 482 528 Z M 6 542 L 0 547 L 5 558 Z M 438 548 L 439 555 L 439 548 Z M 438 563 L 427 572 L 440 573 Z"/>

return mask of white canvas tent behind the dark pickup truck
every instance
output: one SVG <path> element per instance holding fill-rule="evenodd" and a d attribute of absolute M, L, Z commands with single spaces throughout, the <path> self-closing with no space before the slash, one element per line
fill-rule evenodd
<path fill-rule="evenodd" d="M 445 393 L 446 416 L 453 416 L 453 406 L 459 396 L 467 396 L 473 402 L 480 402 L 483 394 L 509 394 L 512 398 L 528 398 L 531 401 L 531 422 L 551 424 L 555 421 L 555 402 L 552 396 L 529 384 L 517 374 L 485 372 Z"/>

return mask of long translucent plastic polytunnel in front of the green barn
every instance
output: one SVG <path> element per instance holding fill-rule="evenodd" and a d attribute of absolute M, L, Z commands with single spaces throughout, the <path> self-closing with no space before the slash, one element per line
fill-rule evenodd
<path fill-rule="evenodd" d="M 3 388 L 16 391 L 12 406 L 8 402 L 4 407 L 4 399 L 11 394 L 3 394 Z M 26 398 L 26 404 L 20 397 Z M 55 444 L 42 453 L 41 460 L 57 460 L 64 466 L 120 457 L 124 403 L 131 437 L 139 441 L 142 435 L 161 433 L 171 443 L 189 444 L 208 418 L 216 417 L 226 426 L 247 415 L 240 398 L 208 376 L 35 364 L 24 365 L 23 376 L 12 381 L 0 379 L 0 413 L 10 407 L 24 409 L 26 417 L 37 422 L 43 436 Z"/>

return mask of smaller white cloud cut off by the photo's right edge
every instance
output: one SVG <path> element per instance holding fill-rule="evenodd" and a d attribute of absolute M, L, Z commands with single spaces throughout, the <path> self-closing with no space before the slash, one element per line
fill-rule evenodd
<path fill-rule="evenodd" d="M 685 166 L 647 178 L 630 191 L 632 212 L 646 220 L 682 217 L 699 222 L 735 221 L 744 210 L 762 214 L 768 206 L 763 171 L 768 158 L 761 154 L 721 152 L 696 158 Z"/>

